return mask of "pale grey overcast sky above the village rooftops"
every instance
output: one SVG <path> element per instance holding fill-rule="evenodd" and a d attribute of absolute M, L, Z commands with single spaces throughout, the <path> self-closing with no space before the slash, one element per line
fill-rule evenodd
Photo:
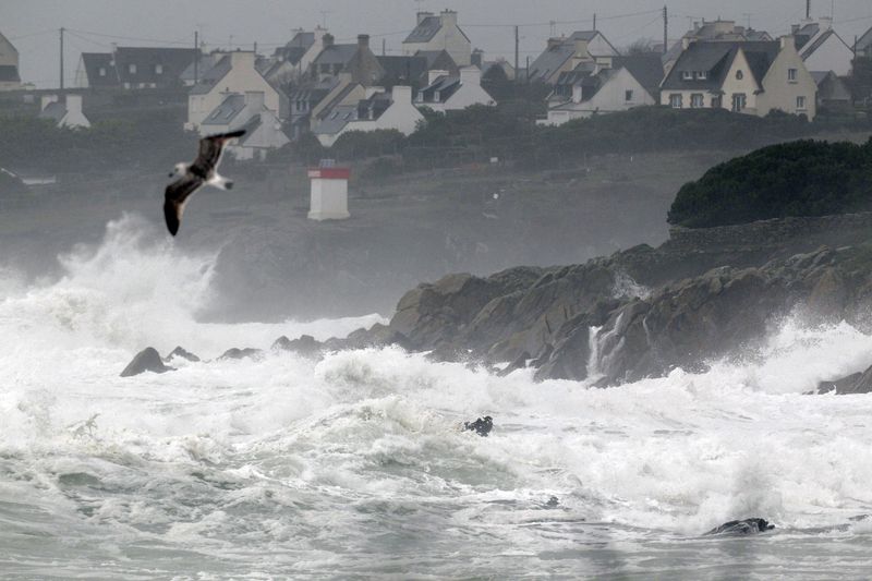
<path fill-rule="evenodd" d="M 692 20 L 718 16 L 773 35 L 785 34 L 806 13 L 806 0 L 666 0 L 669 37 Z M 663 0 L 0 0 L 0 32 L 21 53 L 21 75 L 39 87 L 58 85 L 58 29 L 65 36 L 66 84 L 72 85 L 81 52 L 121 46 L 192 46 L 198 29 L 207 48 L 251 47 L 270 53 L 296 27 L 326 22 L 339 41 L 360 33 L 372 47 L 400 53 L 419 10 L 459 12 L 461 27 L 486 58 L 513 60 L 511 25 L 521 25 L 521 63 L 542 51 L 552 31 L 558 35 L 597 28 L 617 47 L 640 37 L 663 38 Z M 851 44 L 872 26 L 872 0 L 812 0 L 812 16 L 835 16 L 836 32 Z M 554 25 L 548 23 L 554 21 Z M 496 26 L 499 25 L 499 26 Z"/>

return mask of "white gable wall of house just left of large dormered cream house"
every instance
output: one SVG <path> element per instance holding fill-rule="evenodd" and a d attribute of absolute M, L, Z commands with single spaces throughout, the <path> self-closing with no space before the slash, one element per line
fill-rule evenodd
<path fill-rule="evenodd" d="M 627 111 L 644 105 L 656 105 L 656 101 L 627 69 L 620 69 L 606 81 L 592 99 L 573 100 L 549 109 L 547 120 L 540 124 L 560 125 L 573 119 L 585 119 L 594 113 Z"/>

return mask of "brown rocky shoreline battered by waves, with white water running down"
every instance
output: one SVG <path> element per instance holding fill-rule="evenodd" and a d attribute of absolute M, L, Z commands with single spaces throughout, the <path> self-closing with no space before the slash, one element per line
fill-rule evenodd
<path fill-rule="evenodd" d="M 872 214 L 729 228 L 580 265 L 449 275 L 407 292 L 389 325 L 323 343 L 280 338 L 274 349 L 317 356 L 397 344 L 435 361 L 529 366 L 537 379 L 605 387 L 753 351 L 791 313 L 869 327 Z M 821 392 L 870 388 L 872 372 L 833 378 Z"/>

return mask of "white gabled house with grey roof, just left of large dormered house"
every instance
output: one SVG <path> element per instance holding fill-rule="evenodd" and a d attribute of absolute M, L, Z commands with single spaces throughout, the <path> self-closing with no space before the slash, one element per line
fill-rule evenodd
<path fill-rule="evenodd" d="M 548 97 L 547 120 L 538 124 L 560 125 L 597 113 L 656 105 L 662 81 L 663 64 L 655 53 L 615 57 L 609 66 L 581 65 L 560 75 Z"/>

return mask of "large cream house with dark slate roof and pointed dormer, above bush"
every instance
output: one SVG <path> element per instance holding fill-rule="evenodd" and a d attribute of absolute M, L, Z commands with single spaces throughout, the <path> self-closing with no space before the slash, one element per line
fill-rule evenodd
<path fill-rule="evenodd" d="M 723 108 L 760 117 L 780 110 L 812 120 L 816 95 L 790 36 L 771 43 L 685 39 L 685 50 L 661 84 L 661 104 L 674 109 Z"/>

